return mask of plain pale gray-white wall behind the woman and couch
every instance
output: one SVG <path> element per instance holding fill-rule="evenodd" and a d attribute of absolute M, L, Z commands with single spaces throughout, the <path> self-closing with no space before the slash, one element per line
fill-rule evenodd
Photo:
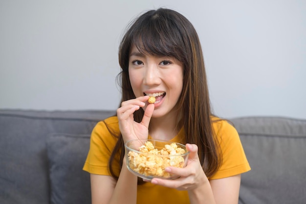
<path fill-rule="evenodd" d="M 121 36 L 160 6 L 196 27 L 218 115 L 306 118 L 305 0 L 1 0 L 0 108 L 116 109 Z"/>

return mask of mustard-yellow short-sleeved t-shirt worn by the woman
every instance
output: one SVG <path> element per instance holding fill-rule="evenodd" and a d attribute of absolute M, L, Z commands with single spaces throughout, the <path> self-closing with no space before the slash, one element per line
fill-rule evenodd
<path fill-rule="evenodd" d="M 116 116 L 107 118 L 105 122 L 108 124 L 110 131 L 117 134 L 120 133 Z M 221 179 L 249 171 L 251 168 L 245 157 L 236 129 L 225 120 L 213 122 L 213 128 L 220 142 L 223 159 L 219 170 L 209 179 Z M 184 129 L 182 128 L 171 141 L 185 143 L 184 138 Z M 117 138 L 110 134 L 105 123 L 99 122 L 92 131 L 90 149 L 83 170 L 92 174 L 110 175 L 108 161 L 116 141 Z M 115 162 L 117 166 L 116 173 L 119 175 L 119 155 L 115 158 Z M 178 191 L 150 182 L 138 185 L 137 187 L 137 204 L 189 203 L 187 191 Z"/>

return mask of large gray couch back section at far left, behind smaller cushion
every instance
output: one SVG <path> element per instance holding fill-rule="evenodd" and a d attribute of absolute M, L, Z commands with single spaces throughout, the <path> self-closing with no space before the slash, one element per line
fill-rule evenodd
<path fill-rule="evenodd" d="M 89 135 L 113 113 L 0 110 L 0 204 L 49 204 L 47 135 Z"/>

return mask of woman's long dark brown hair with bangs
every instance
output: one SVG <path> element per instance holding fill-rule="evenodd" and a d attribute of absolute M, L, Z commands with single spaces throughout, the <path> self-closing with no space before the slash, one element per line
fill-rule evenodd
<path fill-rule="evenodd" d="M 132 45 L 144 54 L 171 56 L 183 63 L 183 89 L 177 105 L 181 110 L 185 139 L 187 143 L 197 144 L 203 170 L 207 177 L 212 176 L 219 169 L 222 157 L 213 133 L 213 114 L 202 49 L 192 23 L 178 12 L 165 8 L 147 11 L 131 22 L 119 47 L 119 65 L 122 70 L 117 77 L 122 88 L 121 102 L 135 98 L 129 78 Z M 136 111 L 135 121 L 140 122 L 143 114 L 142 109 Z M 112 168 L 114 157 L 120 154 L 121 166 L 124 157 L 122 136 L 117 137 L 109 159 L 110 173 L 116 179 L 119 175 Z"/>

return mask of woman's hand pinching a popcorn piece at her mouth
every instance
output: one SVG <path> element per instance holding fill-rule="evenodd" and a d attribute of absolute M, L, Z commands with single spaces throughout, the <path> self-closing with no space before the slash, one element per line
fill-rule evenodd
<path fill-rule="evenodd" d="M 133 113 L 140 107 L 145 107 L 149 96 L 140 96 L 135 99 L 124 101 L 117 109 L 119 129 L 126 143 L 131 139 L 146 139 L 149 135 L 149 123 L 154 111 L 154 104 L 148 104 L 140 123 L 134 121 Z"/>

